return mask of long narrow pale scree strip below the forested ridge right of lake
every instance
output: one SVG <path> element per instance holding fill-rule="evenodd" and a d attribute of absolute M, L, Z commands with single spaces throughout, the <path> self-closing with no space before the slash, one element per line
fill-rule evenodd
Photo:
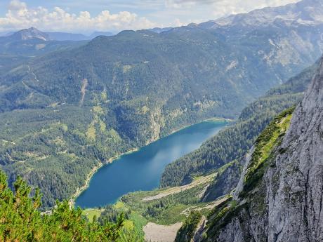
<path fill-rule="evenodd" d="M 193 181 L 190 184 L 180 186 L 180 187 L 171 187 L 170 189 L 166 189 L 165 191 L 161 191 L 159 194 L 157 194 L 155 196 L 147 196 L 142 201 L 153 201 L 153 200 L 157 200 L 157 199 L 162 199 L 164 196 L 169 196 L 171 194 L 178 194 L 178 193 L 185 191 L 187 189 L 197 187 L 199 184 L 211 182 L 211 180 L 213 180 L 213 177 L 215 177 L 215 176 L 216 176 L 216 173 L 213 173 L 211 175 L 207 175 L 206 177 L 201 177 L 201 178 Z"/>

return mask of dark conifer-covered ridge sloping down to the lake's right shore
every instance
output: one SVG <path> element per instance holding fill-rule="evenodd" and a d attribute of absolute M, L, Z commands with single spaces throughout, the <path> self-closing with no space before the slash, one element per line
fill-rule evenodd
<path fill-rule="evenodd" d="M 304 72 L 282 86 L 273 88 L 268 95 L 244 108 L 235 125 L 221 130 L 210 140 L 204 142 L 195 152 L 169 164 L 162 175 L 161 187 L 186 184 L 192 180 L 194 175 L 209 173 L 228 163 L 237 168 L 239 166 L 237 161 L 251 148 L 256 137 L 273 117 L 301 100 L 315 67 L 317 64 L 305 69 Z M 235 162 L 231 163 L 232 161 Z M 238 177 L 236 182 L 237 179 Z M 211 188 L 218 189 L 217 184 L 218 182 L 215 181 Z M 231 188 L 234 187 L 235 184 L 232 184 Z M 222 195 L 221 193 L 215 194 Z"/>

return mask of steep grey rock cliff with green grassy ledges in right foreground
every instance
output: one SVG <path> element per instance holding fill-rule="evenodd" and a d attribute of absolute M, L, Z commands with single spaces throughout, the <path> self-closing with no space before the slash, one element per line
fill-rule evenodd
<path fill-rule="evenodd" d="M 232 200 L 209 217 L 204 241 L 323 241 L 323 60 L 289 128 L 288 117 L 258 138 Z M 288 130 L 275 135 L 277 127 Z"/>

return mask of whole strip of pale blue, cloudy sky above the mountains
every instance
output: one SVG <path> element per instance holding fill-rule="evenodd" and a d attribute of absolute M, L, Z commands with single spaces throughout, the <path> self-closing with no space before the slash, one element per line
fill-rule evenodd
<path fill-rule="evenodd" d="M 0 32 L 117 32 L 176 27 L 299 0 L 0 0 Z"/>

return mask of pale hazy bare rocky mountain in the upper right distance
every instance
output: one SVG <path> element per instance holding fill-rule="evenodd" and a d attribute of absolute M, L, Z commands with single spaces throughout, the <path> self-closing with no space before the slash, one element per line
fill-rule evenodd
<path fill-rule="evenodd" d="M 223 36 L 231 45 L 248 49 L 253 46 L 253 55 L 261 57 L 268 68 L 275 69 L 280 76 L 281 70 L 276 65 L 282 65 L 286 71 L 309 60 L 308 53 L 312 51 L 319 53 L 312 62 L 320 57 L 322 44 L 319 42 L 322 38 L 315 33 L 322 31 L 322 13 L 322 0 L 303 0 L 296 4 L 231 15 L 197 26 Z M 305 29 L 307 34 L 303 32 Z M 312 30 L 308 32 L 309 29 Z"/>

